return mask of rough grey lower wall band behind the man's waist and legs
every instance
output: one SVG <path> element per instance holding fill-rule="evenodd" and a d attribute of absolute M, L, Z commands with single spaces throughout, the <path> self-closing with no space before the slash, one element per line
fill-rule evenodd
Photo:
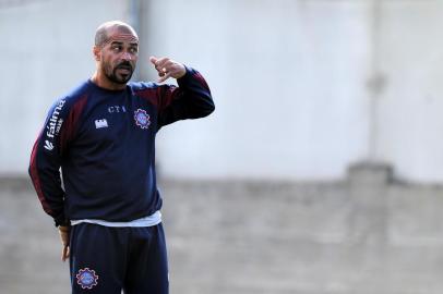
<path fill-rule="evenodd" d="M 440 294 L 443 186 L 354 167 L 345 182 L 163 182 L 171 293 Z M 0 183 L 0 284 L 68 293 L 51 220 Z"/>

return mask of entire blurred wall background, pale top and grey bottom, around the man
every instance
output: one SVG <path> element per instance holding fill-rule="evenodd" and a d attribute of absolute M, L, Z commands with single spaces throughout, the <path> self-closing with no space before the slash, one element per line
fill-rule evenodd
<path fill-rule="evenodd" d="M 157 136 L 171 293 L 442 293 L 443 1 L 0 0 L 1 293 L 70 291 L 27 164 L 109 20 L 216 102 Z"/>

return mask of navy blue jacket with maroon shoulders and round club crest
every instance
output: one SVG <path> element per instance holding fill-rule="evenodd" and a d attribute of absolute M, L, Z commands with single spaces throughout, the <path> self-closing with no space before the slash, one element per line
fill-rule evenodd
<path fill-rule="evenodd" d="M 80 219 L 131 221 L 161 208 L 156 133 L 215 108 L 195 70 L 187 68 L 178 85 L 129 83 L 123 90 L 107 90 L 87 81 L 56 101 L 29 164 L 38 198 L 56 225 Z"/>

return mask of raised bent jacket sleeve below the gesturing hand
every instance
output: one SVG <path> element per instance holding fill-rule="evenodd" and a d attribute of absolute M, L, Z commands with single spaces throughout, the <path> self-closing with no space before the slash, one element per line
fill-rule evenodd
<path fill-rule="evenodd" d="M 209 87 L 203 76 L 191 68 L 185 68 L 184 76 L 177 79 L 178 87 L 161 85 L 158 100 L 159 127 L 178 120 L 199 119 L 211 114 L 215 105 Z"/>

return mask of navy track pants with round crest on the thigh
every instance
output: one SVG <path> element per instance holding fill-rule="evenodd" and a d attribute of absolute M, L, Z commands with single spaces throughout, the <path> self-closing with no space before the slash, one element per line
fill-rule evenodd
<path fill-rule="evenodd" d="M 146 228 L 80 223 L 71 229 L 70 249 L 73 294 L 169 292 L 161 223 Z"/>

